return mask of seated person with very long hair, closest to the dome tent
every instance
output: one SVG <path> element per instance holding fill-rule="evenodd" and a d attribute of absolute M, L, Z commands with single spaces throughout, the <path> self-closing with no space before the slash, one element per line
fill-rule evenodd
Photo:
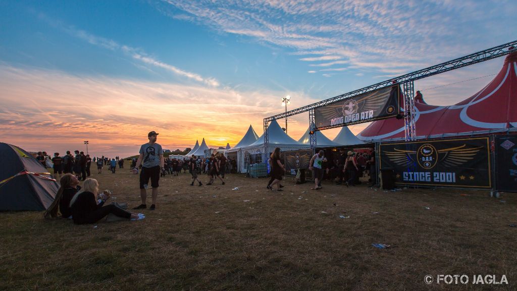
<path fill-rule="evenodd" d="M 58 209 L 61 216 L 64 218 L 68 218 L 72 215 L 72 211 L 70 210 L 70 200 L 72 200 L 72 197 L 81 190 L 79 179 L 72 174 L 67 173 L 61 177 L 59 184 L 60 186 L 57 190 L 54 201 L 43 215 L 45 219 L 57 217 Z"/>

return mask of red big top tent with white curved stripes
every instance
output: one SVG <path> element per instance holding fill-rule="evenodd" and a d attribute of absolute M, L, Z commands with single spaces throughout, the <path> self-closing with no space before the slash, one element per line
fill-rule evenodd
<path fill-rule="evenodd" d="M 517 130 L 517 53 L 507 55 L 499 74 L 481 91 L 460 103 L 434 106 L 417 95 L 415 107 L 418 139 Z M 374 121 L 357 137 L 363 141 L 404 139 L 404 120 Z"/>

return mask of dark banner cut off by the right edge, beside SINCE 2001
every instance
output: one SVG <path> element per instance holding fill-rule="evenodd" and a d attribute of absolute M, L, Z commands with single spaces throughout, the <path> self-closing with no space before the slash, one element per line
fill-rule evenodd
<path fill-rule="evenodd" d="M 517 192 L 517 136 L 495 138 L 497 191 Z"/>

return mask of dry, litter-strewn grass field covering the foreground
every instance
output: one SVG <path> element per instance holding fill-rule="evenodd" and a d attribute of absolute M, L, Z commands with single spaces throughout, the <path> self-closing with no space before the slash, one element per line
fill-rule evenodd
<path fill-rule="evenodd" d="M 128 170 L 92 178 L 118 202 L 139 204 L 138 176 Z M 517 289 L 514 195 L 330 182 L 311 191 L 291 179 L 270 192 L 266 179 L 242 174 L 224 186 L 190 186 L 189 178 L 162 178 L 157 210 L 143 211 L 143 221 L 74 225 L 0 213 L 0 289 Z M 427 274 L 466 274 L 469 284 L 428 285 Z M 509 284 L 473 285 L 475 274 L 505 274 Z"/>

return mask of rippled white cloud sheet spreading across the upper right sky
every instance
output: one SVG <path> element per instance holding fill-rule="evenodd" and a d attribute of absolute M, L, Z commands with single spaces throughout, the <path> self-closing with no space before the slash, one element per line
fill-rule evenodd
<path fill-rule="evenodd" d="M 503 4 L 473 0 L 462 1 L 461 5 L 442 0 L 232 0 L 224 5 L 167 0 L 163 3 L 157 6 L 161 11 L 176 12 L 169 12 L 171 16 L 187 15 L 187 21 L 216 31 L 248 36 L 284 47 L 293 55 L 306 55 L 301 61 L 339 60 L 310 66 L 330 67 L 346 61 L 351 69 L 355 66 L 375 71 L 378 64 L 383 64 L 379 72 L 386 75 L 497 45 L 495 36 L 504 38 L 508 27 L 497 15 L 506 13 L 501 10 L 515 11 L 517 7 L 509 1 Z M 501 9 L 503 6 L 506 8 Z"/>

